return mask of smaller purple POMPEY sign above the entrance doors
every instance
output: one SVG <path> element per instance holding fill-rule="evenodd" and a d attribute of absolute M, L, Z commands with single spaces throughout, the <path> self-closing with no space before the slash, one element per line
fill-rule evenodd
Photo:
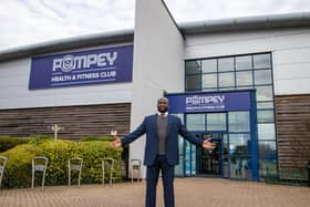
<path fill-rule="evenodd" d="M 167 95 L 169 113 L 250 110 L 250 92 L 217 92 Z"/>

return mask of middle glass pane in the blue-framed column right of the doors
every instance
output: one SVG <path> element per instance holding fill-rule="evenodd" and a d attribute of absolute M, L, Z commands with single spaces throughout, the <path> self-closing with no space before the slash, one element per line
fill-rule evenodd
<path fill-rule="evenodd" d="M 250 145 L 249 134 L 229 134 L 229 154 L 248 155 Z"/>

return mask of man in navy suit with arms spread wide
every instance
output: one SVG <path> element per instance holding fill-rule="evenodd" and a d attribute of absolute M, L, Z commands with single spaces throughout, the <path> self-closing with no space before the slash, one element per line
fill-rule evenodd
<path fill-rule="evenodd" d="M 146 133 L 144 165 L 146 170 L 146 207 L 156 206 L 156 187 L 162 170 L 165 207 L 174 207 L 174 168 L 178 164 L 178 134 L 193 144 L 213 148 L 209 141 L 200 141 L 186 131 L 180 120 L 168 115 L 168 100 L 157 101 L 158 113 L 146 116 L 143 123 L 122 139 L 115 136 L 114 147 L 128 144 Z"/>

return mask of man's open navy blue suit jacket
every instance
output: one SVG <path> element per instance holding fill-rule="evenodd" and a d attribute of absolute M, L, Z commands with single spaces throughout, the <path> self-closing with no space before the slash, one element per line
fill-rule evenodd
<path fill-rule="evenodd" d="M 157 114 L 146 116 L 143 123 L 131 134 L 124 136 L 122 145 L 137 139 L 146 133 L 146 144 L 144 153 L 144 165 L 152 165 L 157 154 Z M 167 137 L 166 137 L 166 156 L 170 165 L 178 164 L 178 135 L 196 145 L 203 145 L 203 141 L 196 138 L 189 133 L 182 124 L 180 120 L 176 116 L 168 115 Z"/>

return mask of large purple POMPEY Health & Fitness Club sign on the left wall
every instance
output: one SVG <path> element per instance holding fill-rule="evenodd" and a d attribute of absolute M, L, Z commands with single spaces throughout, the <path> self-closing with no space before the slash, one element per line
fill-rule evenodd
<path fill-rule="evenodd" d="M 32 58 L 29 89 L 131 82 L 133 45 Z"/>

